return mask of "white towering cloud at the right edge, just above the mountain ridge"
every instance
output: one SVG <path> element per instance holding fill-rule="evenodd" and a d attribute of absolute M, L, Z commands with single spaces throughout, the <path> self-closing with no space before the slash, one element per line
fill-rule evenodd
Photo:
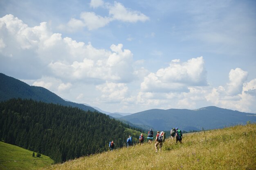
<path fill-rule="evenodd" d="M 247 83 L 246 80 L 247 72 L 240 68 L 231 69 L 227 85 L 213 87 L 208 90 L 205 98 L 218 107 L 255 112 L 256 79 Z"/>

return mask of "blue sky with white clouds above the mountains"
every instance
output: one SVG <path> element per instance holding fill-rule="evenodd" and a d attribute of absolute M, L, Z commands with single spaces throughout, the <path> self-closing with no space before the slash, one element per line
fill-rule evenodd
<path fill-rule="evenodd" d="M 0 72 L 112 113 L 256 113 L 256 1 L 0 0 Z"/>

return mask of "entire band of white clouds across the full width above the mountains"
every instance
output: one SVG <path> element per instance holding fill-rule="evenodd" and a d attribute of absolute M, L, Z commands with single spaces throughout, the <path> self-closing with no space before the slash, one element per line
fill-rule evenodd
<path fill-rule="evenodd" d="M 236 68 L 227 83 L 211 87 L 203 57 L 174 59 L 150 72 L 144 60 L 133 61 L 123 44 L 94 48 L 90 42 L 52 33 L 46 22 L 29 27 L 13 15 L 0 18 L 0 37 L 1 72 L 27 78 L 63 98 L 131 112 L 209 105 L 256 111 L 256 79 L 247 82 L 248 73 Z"/>

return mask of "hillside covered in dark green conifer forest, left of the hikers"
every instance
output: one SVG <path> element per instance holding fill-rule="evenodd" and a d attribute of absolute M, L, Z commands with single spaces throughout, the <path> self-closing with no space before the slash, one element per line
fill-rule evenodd
<path fill-rule="evenodd" d="M 0 139 L 63 162 L 122 147 L 128 135 L 140 132 L 109 116 L 78 108 L 27 99 L 0 102 Z"/>

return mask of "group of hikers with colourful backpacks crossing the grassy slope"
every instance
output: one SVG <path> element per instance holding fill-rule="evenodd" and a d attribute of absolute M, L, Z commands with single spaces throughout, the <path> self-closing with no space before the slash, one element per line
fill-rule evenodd
<path fill-rule="evenodd" d="M 151 144 L 152 143 L 152 140 L 154 139 L 153 137 L 153 130 L 150 129 L 150 131 L 148 131 L 148 143 Z M 178 142 L 180 142 L 182 144 L 182 131 L 179 130 L 178 128 L 173 128 L 171 129 L 170 131 L 170 135 L 171 135 L 171 139 L 176 139 L 176 144 Z M 155 138 L 155 152 L 158 151 L 158 146 L 159 146 L 159 152 L 162 151 L 162 146 L 163 146 L 163 142 L 165 141 L 165 133 L 164 131 L 162 132 L 159 132 L 157 131 L 157 135 L 156 135 L 156 138 Z M 141 135 L 139 136 L 139 144 L 142 145 L 144 143 L 144 136 L 143 134 L 141 133 Z M 127 144 L 127 148 L 129 148 L 129 146 L 132 145 L 132 137 L 129 135 L 129 137 L 126 139 L 126 144 Z M 112 151 L 115 147 L 115 143 L 114 141 L 112 142 L 109 142 L 109 147 L 110 147 L 110 150 Z"/>

